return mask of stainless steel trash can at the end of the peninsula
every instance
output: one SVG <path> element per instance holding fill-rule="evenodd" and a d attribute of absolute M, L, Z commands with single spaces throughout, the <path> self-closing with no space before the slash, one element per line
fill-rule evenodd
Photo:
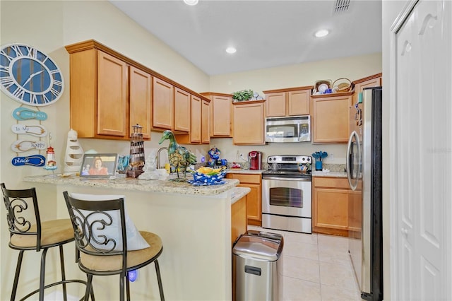
<path fill-rule="evenodd" d="M 283 236 L 249 230 L 232 248 L 235 300 L 282 300 Z"/>

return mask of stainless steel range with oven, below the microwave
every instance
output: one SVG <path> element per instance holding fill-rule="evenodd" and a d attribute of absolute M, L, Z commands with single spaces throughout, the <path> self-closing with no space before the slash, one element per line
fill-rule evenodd
<path fill-rule="evenodd" d="M 312 158 L 270 155 L 262 173 L 262 228 L 312 233 Z"/>

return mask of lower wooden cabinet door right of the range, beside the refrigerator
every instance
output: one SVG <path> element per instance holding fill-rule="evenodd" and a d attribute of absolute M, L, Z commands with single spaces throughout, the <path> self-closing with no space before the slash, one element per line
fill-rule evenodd
<path fill-rule="evenodd" d="M 315 227 L 347 230 L 348 191 L 314 189 L 313 225 Z"/>

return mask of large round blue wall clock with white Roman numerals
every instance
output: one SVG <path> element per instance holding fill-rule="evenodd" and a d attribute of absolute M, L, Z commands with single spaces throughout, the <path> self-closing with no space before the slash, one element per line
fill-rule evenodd
<path fill-rule="evenodd" d="M 46 54 L 24 44 L 0 49 L 0 88 L 26 105 L 51 105 L 59 100 L 64 80 L 57 64 Z"/>

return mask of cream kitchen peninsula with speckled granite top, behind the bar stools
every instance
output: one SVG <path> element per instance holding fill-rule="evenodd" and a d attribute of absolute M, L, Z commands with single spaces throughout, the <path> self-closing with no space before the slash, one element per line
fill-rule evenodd
<path fill-rule="evenodd" d="M 60 175 L 25 177 L 38 191 L 52 191 L 57 199 L 57 218 L 67 218 L 63 191 L 85 194 L 123 194 L 126 210 L 138 230 L 162 238 L 159 258 L 167 300 L 231 300 L 231 205 L 249 193 L 236 187 L 237 179 L 225 184 L 194 187 L 186 182 L 139 179 L 80 179 Z M 73 256 L 73 249 L 68 256 Z M 67 252 L 67 251 L 66 251 Z M 76 264 L 66 264 L 71 273 Z M 98 300 L 117 300 L 117 278 L 95 277 Z M 97 289 L 96 289 L 97 288 Z M 158 300 L 155 269 L 141 268 L 131 283 L 132 299 Z"/>

